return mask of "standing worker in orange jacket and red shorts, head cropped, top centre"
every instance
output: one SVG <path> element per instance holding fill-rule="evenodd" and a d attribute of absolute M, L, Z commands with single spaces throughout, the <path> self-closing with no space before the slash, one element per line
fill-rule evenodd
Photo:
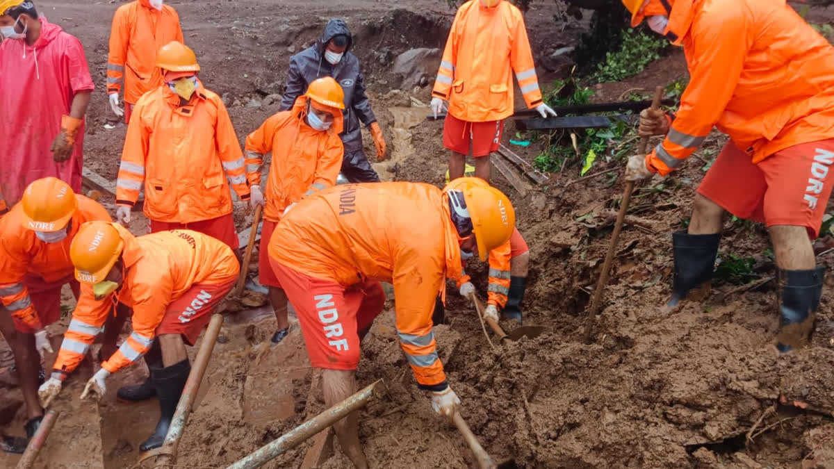
<path fill-rule="evenodd" d="M 431 95 L 435 118 L 449 102 L 443 144 L 451 150 L 450 179 L 464 175 L 472 149 L 475 176 L 490 180 L 490 152 L 498 149 L 504 119 L 514 112 L 513 73 L 528 108 L 555 117 L 541 98 L 521 12 L 505 0 L 470 0 L 452 23 Z"/>

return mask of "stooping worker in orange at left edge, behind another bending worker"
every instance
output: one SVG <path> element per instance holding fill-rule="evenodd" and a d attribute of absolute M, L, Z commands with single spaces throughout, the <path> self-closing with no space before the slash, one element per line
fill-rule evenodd
<path fill-rule="evenodd" d="M 0 218 L 0 331 L 14 350 L 29 438 L 43 419 L 38 374 L 44 351 L 53 351 L 46 326 L 61 319 L 63 285 L 78 297 L 69 245 L 81 224 L 93 220 L 110 221 L 110 215 L 52 177 L 29 184 Z"/>

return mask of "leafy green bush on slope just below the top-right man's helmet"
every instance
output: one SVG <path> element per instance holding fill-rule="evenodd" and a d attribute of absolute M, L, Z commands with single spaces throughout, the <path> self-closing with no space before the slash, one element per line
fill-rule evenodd
<path fill-rule="evenodd" d="M 605 53 L 605 60 L 597 64 L 594 78 L 600 82 L 613 82 L 636 75 L 646 65 L 661 57 L 661 51 L 669 42 L 656 34 L 628 28 L 623 31 L 622 45 Z"/>

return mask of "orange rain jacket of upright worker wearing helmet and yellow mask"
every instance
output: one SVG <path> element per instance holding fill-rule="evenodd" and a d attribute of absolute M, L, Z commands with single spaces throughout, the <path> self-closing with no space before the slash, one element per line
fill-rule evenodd
<path fill-rule="evenodd" d="M 118 169 L 116 204 L 133 207 L 144 184 L 149 219 L 192 223 L 230 214 L 229 182 L 242 200 L 249 199 L 249 184 L 229 112 L 203 83 L 187 105 L 180 107 L 179 99 L 160 86 L 136 103 Z"/>

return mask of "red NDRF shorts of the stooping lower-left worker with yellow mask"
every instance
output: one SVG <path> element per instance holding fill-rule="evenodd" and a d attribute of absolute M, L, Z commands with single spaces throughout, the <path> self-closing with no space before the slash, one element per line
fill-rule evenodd
<path fill-rule="evenodd" d="M 224 284 L 194 284 L 165 310 L 156 335 L 180 334 L 188 345 L 194 345 L 200 331 L 208 324 L 214 307 L 232 291 L 238 279 Z"/>

